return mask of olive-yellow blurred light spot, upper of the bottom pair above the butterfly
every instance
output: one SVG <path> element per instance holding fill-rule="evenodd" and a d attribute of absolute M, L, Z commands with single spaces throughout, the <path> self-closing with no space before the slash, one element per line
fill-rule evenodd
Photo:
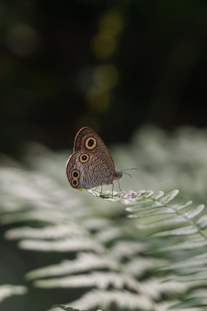
<path fill-rule="evenodd" d="M 93 73 L 93 80 L 97 86 L 104 89 L 113 88 L 119 79 L 118 70 L 111 64 L 98 66 Z"/>

